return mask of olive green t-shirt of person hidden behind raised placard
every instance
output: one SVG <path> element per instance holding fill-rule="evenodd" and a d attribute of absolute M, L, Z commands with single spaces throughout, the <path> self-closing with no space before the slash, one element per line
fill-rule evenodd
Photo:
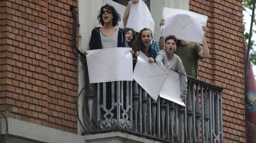
<path fill-rule="evenodd" d="M 198 52 L 202 50 L 201 45 L 193 42 L 177 46 L 175 54 L 181 58 L 187 75 L 197 78 L 200 58 Z"/>

